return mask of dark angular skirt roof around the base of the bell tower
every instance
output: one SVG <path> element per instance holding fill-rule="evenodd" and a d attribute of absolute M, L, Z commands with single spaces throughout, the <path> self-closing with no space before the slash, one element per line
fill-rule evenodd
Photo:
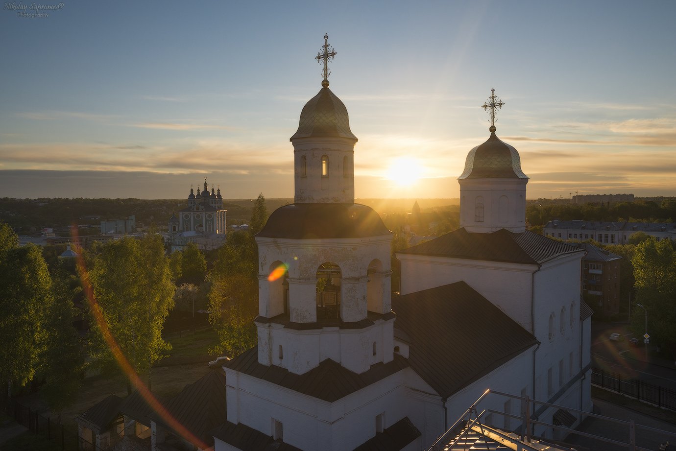
<path fill-rule="evenodd" d="M 334 402 L 393 375 L 406 368 L 408 363 L 405 358 L 395 354 L 393 361 L 373 364 L 368 371 L 358 375 L 345 369 L 341 364 L 327 359 L 307 373 L 297 375 L 281 366 L 266 366 L 258 363 L 258 347 L 255 347 L 225 362 L 223 366 L 313 398 Z"/>

